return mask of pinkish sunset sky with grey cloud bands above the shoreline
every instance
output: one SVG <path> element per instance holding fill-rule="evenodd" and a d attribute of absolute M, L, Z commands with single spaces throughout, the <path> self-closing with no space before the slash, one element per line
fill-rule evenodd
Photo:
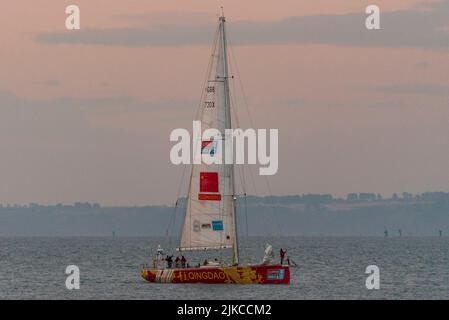
<path fill-rule="evenodd" d="M 279 129 L 248 193 L 449 191 L 448 0 L 30 3 L 0 12 L 0 203 L 172 204 L 220 6 L 252 123 Z"/>

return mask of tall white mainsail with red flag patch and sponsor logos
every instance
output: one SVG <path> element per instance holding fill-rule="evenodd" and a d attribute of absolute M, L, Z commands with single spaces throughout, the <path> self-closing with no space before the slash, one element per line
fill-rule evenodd
<path fill-rule="evenodd" d="M 190 176 L 187 207 L 178 250 L 233 248 L 238 263 L 234 202 L 234 167 L 224 164 L 225 129 L 231 128 L 225 18 L 219 18 L 209 75 L 201 107 L 202 130 L 214 128 L 221 134 L 201 140 L 196 156 L 220 157 L 223 164 L 194 164 Z M 197 137 L 200 138 L 200 137 Z M 232 139 L 232 136 L 229 137 Z M 222 150 L 221 150 L 222 149 Z M 221 150 L 221 151 L 220 151 Z"/>

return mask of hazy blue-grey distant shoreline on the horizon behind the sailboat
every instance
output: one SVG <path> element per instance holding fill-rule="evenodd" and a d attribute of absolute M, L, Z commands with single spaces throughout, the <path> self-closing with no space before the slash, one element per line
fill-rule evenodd
<path fill-rule="evenodd" d="M 370 198 L 371 197 L 371 198 Z M 0 236 L 145 237 L 178 234 L 178 207 L 102 207 L 99 204 L 0 207 Z M 246 205 L 245 205 L 246 204 Z M 237 200 L 239 232 L 250 236 L 449 235 L 449 193 L 390 199 L 335 199 L 330 195 L 253 197 Z"/>

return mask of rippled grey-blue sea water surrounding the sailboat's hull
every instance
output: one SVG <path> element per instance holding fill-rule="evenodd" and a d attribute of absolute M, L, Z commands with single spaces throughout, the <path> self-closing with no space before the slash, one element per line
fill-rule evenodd
<path fill-rule="evenodd" d="M 243 260 L 265 243 L 298 264 L 289 286 L 152 284 L 139 276 L 162 238 L 0 238 L 1 299 L 448 299 L 449 237 L 286 237 L 242 241 Z M 199 261 L 203 256 L 188 257 Z M 80 268 L 80 290 L 67 290 L 65 268 Z M 367 290 L 365 268 L 380 268 L 380 290 Z"/>

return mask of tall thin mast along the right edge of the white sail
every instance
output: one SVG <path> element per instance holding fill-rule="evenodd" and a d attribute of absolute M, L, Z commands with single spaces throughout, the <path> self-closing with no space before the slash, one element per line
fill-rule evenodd
<path fill-rule="evenodd" d="M 232 129 L 232 121 L 231 121 L 231 99 L 230 99 L 230 93 L 229 93 L 229 70 L 228 70 L 228 43 L 226 41 L 226 27 L 225 22 L 226 18 L 224 17 L 223 13 L 223 7 L 221 7 L 222 15 L 220 17 L 220 28 L 221 28 L 221 35 L 222 35 L 222 48 L 223 48 L 223 66 L 224 66 L 224 89 L 225 89 L 225 126 L 226 129 Z M 232 139 L 232 137 L 226 137 L 225 139 Z M 239 263 L 239 245 L 238 245 L 238 236 L 237 236 L 237 211 L 235 207 L 235 176 L 234 176 L 234 165 L 233 164 L 226 164 L 225 166 L 228 166 L 228 174 L 229 179 L 232 180 L 232 206 L 233 206 L 233 213 L 234 213 L 234 245 L 233 245 L 233 257 L 232 262 L 233 264 Z"/>

